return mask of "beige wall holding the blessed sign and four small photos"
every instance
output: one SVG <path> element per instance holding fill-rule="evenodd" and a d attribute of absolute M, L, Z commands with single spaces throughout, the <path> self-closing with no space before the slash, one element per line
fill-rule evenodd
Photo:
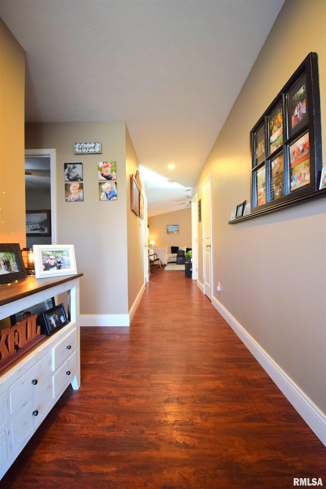
<path fill-rule="evenodd" d="M 138 219 L 130 206 L 127 207 L 130 191 L 126 174 L 125 123 L 26 124 L 25 139 L 27 149 L 56 149 L 57 241 L 74 244 L 77 269 L 84 274 L 80 280 L 81 314 L 127 314 L 128 303 L 133 302 L 140 290 L 142 276 L 139 277 L 138 269 L 134 270 L 128 291 L 127 234 L 135 243 L 134 254 L 137 256 L 140 245 L 139 230 L 135 226 Z M 100 141 L 102 154 L 75 155 L 74 143 L 87 141 Z M 134 154 L 130 157 L 132 143 L 129 139 L 127 146 L 130 172 L 131 167 L 132 171 L 137 168 L 138 162 Z M 116 201 L 99 201 L 98 161 L 117 162 Z M 65 201 L 64 163 L 67 162 L 83 163 L 83 202 Z"/>

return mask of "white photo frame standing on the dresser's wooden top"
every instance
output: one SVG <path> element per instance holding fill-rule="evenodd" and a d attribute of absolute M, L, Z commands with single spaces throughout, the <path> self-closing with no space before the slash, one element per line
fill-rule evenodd
<path fill-rule="evenodd" d="M 34 244 L 37 279 L 77 274 L 73 244 Z"/>

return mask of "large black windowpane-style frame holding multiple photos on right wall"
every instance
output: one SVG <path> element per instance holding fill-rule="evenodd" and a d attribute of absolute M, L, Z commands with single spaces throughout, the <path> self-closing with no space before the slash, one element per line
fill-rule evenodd
<path fill-rule="evenodd" d="M 251 213 L 321 197 L 317 53 L 310 52 L 250 133 Z"/>

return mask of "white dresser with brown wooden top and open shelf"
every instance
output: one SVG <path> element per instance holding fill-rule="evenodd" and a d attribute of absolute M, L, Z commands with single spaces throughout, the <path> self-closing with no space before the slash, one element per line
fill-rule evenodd
<path fill-rule="evenodd" d="M 67 293 L 69 323 L 0 372 L 0 479 L 69 384 L 80 386 L 79 277 L 0 286 L 0 319 Z"/>

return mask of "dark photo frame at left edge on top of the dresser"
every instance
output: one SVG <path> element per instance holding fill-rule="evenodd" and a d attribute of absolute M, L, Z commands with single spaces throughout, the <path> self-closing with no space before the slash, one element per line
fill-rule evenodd
<path fill-rule="evenodd" d="M 0 284 L 10 284 L 26 277 L 19 243 L 0 244 Z"/>

